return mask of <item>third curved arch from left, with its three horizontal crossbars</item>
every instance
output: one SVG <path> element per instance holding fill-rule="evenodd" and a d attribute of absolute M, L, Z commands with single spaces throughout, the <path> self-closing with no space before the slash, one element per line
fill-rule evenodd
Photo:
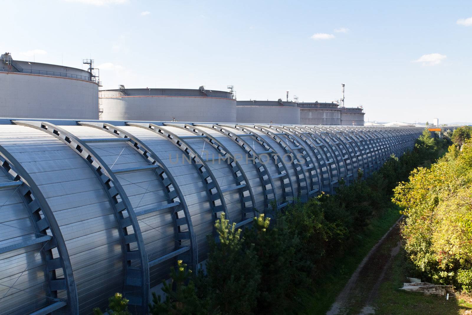
<path fill-rule="evenodd" d="M 190 213 L 188 210 L 188 206 L 185 202 L 184 196 L 182 195 L 180 188 L 175 182 L 175 179 L 171 175 L 170 171 L 167 169 L 166 165 L 160 160 L 157 154 L 154 153 L 147 145 L 145 145 L 142 141 L 140 141 L 138 138 L 136 138 L 130 132 L 127 132 L 123 128 L 119 128 L 109 123 L 99 122 L 81 121 L 77 124 L 80 126 L 98 128 L 100 130 L 104 130 L 110 133 L 113 136 L 116 136 L 118 139 L 125 139 L 126 143 L 130 145 L 135 150 L 135 152 L 139 153 L 143 157 L 143 161 L 149 164 L 148 166 L 135 167 L 125 170 L 114 170 L 114 173 L 125 171 L 134 172 L 146 170 L 146 168 L 153 168 L 152 173 L 155 175 L 156 179 L 162 186 L 164 194 L 167 197 L 168 204 L 153 207 L 151 209 L 146 209 L 144 211 L 137 211 L 135 212 L 136 217 L 139 220 L 140 215 L 145 215 L 154 212 L 170 211 L 172 213 L 172 221 L 174 224 L 175 248 L 174 251 L 167 253 L 166 255 L 150 260 L 149 267 L 155 266 L 169 259 L 174 259 L 174 263 L 175 265 L 177 265 L 177 259 L 181 259 L 185 262 L 185 264 L 192 266 L 193 270 L 196 270 L 197 248 L 192 219 L 190 218 Z M 187 240 L 189 243 L 188 245 L 184 244 Z"/>

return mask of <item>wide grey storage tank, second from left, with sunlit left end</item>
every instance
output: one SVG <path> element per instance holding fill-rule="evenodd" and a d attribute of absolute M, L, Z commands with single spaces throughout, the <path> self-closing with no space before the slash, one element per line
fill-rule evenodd
<path fill-rule="evenodd" d="M 126 89 L 100 91 L 101 119 L 154 121 L 236 121 L 236 100 L 225 91 L 205 89 Z"/>

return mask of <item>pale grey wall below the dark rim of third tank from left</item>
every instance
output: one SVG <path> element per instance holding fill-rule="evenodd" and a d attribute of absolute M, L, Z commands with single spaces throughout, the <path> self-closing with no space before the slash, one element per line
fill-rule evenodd
<path fill-rule="evenodd" d="M 293 106 L 236 106 L 236 122 L 300 124 L 300 109 Z"/>

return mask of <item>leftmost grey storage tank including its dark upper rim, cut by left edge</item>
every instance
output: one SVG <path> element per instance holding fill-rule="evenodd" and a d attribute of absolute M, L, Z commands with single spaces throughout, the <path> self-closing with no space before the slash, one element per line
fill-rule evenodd
<path fill-rule="evenodd" d="M 98 119 L 98 81 L 91 72 L 0 57 L 0 116 Z"/>

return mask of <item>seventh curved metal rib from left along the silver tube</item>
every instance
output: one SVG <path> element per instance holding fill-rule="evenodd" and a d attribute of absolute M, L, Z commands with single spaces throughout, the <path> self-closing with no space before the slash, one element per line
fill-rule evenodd
<path fill-rule="evenodd" d="M 279 159 L 277 156 L 277 151 L 267 143 L 261 136 L 253 133 L 251 130 L 247 129 L 243 125 L 226 125 L 226 124 L 219 124 L 220 127 L 226 127 L 226 128 L 234 128 L 237 131 L 243 132 L 243 134 L 236 135 L 239 138 L 242 136 L 247 136 L 252 138 L 255 142 L 257 142 L 259 145 L 261 145 L 266 151 L 263 151 L 262 154 L 268 154 L 270 161 L 272 161 L 275 164 L 275 167 L 277 169 L 278 175 L 276 176 L 269 176 L 274 179 L 274 178 L 279 178 L 280 183 L 282 186 L 282 203 L 278 202 L 277 199 L 275 198 L 276 192 L 273 191 L 274 194 L 274 202 L 277 204 L 277 210 L 282 209 L 283 207 L 287 206 L 288 204 L 292 204 L 295 202 L 295 195 L 294 195 L 294 186 L 292 183 L 292 179 L 290 178 L 290 173 L 287 170 L 287 165 L 282 161 L 282 159 Z M 262 155 L 259 154 L 259 155 Z M 257 164 L 256 164 L 257 166 Z M 284 173 L 285 172 L 285 173 Z M 287 180 L 287 182 L 286 182 Z M 275 187 L 275 185 L 274 185 Z M 275 210 L 275 209 L 272 209 Z"/>

